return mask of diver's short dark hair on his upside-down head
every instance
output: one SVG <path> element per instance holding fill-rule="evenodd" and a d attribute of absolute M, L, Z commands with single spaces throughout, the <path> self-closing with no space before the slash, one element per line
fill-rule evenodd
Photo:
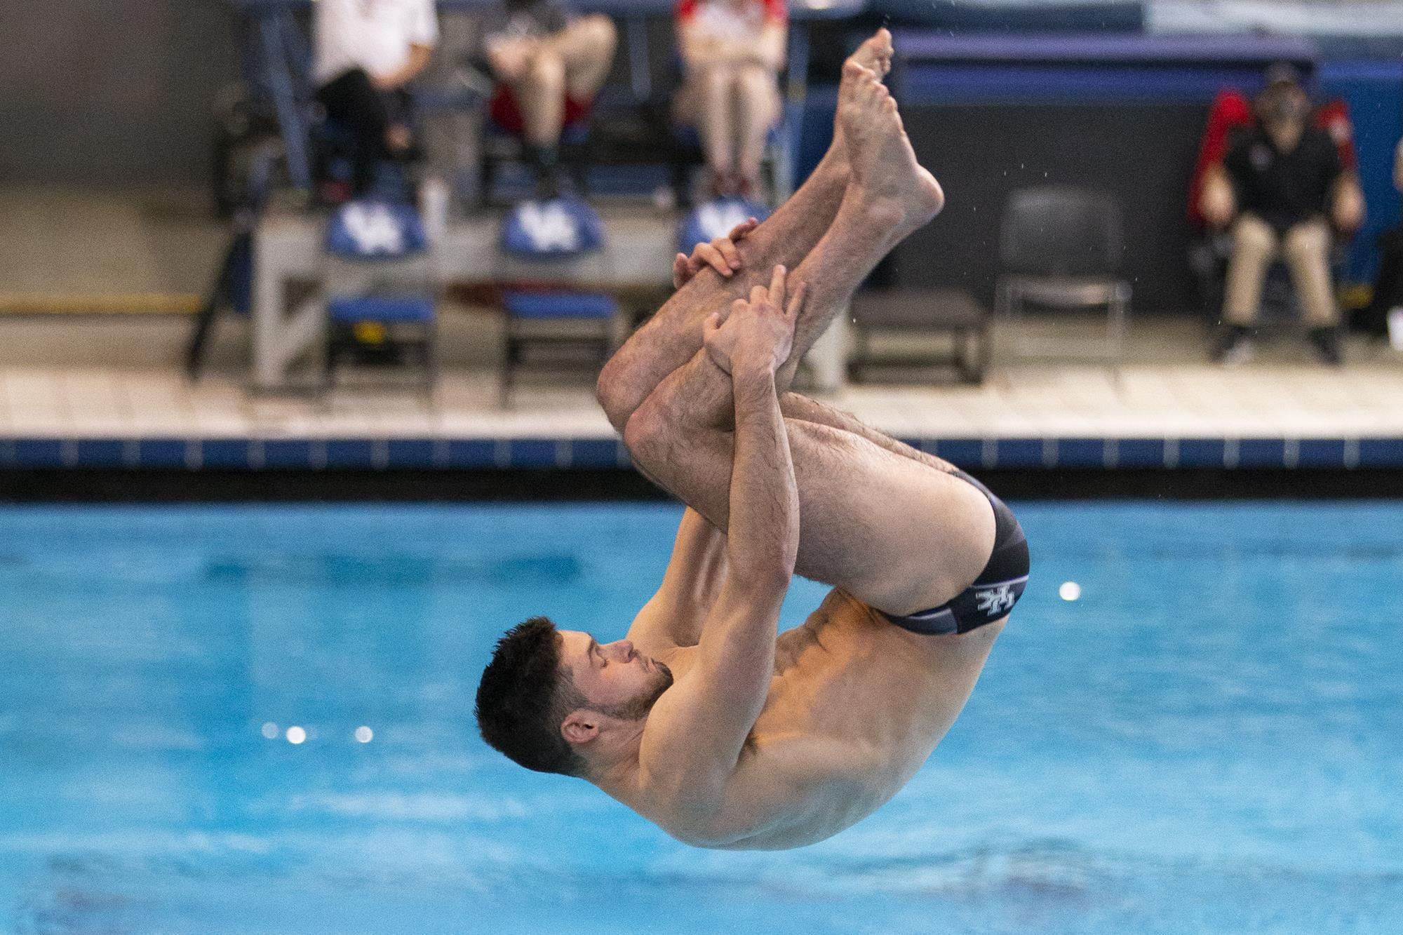
<path fill-rule="evenodd" d="M 560 665 L 560 633 L 533 616 L 497 640 L 477 685 L 477 729 L 483 740 L 537 772 L 582 776 L 585 761 L 560 734 L 565 716 L 585 698 Z"/>

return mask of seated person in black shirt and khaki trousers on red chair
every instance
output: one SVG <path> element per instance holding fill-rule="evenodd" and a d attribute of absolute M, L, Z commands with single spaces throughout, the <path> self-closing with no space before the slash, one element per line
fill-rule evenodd
<path fill-rule="evenodd" d="M 1223 329 L 1212 357 L 1230 364 L 1251 354 L 1267 265 L 1285 257 L 1310 344 L 1327 364 L 1340 364 L 1340 312 L 1330 281 L 1331 225 L 1352 232 L 1364 223 L 1364 194 L 1340 163 L 1334 140 L 1309 125 L 1310 101 L 1289 65 L 1267 70 L 1254 102 L 1256 124 L 1242 132 L 1204 180 L 1201 209 L 1208 223 L 1232 227 L 1232 257 L 1223 299 Z"/>

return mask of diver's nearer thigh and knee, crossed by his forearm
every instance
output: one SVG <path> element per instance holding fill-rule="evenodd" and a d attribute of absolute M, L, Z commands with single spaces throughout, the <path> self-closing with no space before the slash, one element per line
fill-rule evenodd
<path fill-rule="evenodd" d="M 732 404 L 730 375 L 703 350 L 648 396 L 624 432 L 640 469 L 721 531 L 730 528 Z M 890 614 L 944 604 L 978 577 L 993 548 L 993 517 L 975 487 L 853 431 L 790 417 L 786 425 L 800 574 Z"/>

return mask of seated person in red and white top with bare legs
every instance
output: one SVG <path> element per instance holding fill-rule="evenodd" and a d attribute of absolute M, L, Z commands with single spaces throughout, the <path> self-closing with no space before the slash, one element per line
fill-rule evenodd
<path fill-rule="evenodd" d="M 753 199 L 765 140 L 780 117 L 784 0 L 680 0 L 676 20 L 678 119 L 702 136 L 710 192 Z"/>

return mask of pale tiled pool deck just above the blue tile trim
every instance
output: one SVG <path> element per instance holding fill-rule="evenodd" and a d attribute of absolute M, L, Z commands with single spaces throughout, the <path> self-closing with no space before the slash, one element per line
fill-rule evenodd
<path fill-rule="evenodd" d="M 481 316 L 464 316 L 473 320 Z M 250 393 L 239 371 L 241 336 L 226 327 L 209 376 L 175 366 L 188 323 L 135 326 L 140 350 L 123 352 L 122 323 L 0 321 L 0 435 L 11 438 L 607 438 L 612 430 L 586 380 L 536 378 L 504 410 L 497 399 L 491 326 L 469 326 L 470 348 L 445 368 L 432 403 L 394 390 L 338 392 L 317 400 Z M 142 330 L 149 340 L 142 341 Z M 17 334 L 22 331 L 22 334 Z M 153 337 L 154 336 L 154 337 Z M 7 341 L 6 338 L 11 340 Z M 84 341 L 91 358 L 83 359 Z M 1201 358 L 1201 331 L 1174 323 L 1132 327 L 1117 383 L 1094 365 L 1000 364 L 982 386 L 849 383 L 824 393 L 871 425 L 904 438 L 1354 438 L 1403 437 L 1403 354 L 1351 344 L 1327 368 L 1289 340 L 1253 362 L 1221 368 Z M 36 359 L 53 345 L 48 362 Z M 1163 359 L 1148 359 L 1155 350 Z M 168 362 L 159 359 L 166 354 Z M 114 358 L 114 355 L 116 355 Z M 28 359 L 14 359 L 25 357 Z M 157 359 L 140 359 L 142 357 Z M 902 376 L 902 375 L 895 375 Z"/>

